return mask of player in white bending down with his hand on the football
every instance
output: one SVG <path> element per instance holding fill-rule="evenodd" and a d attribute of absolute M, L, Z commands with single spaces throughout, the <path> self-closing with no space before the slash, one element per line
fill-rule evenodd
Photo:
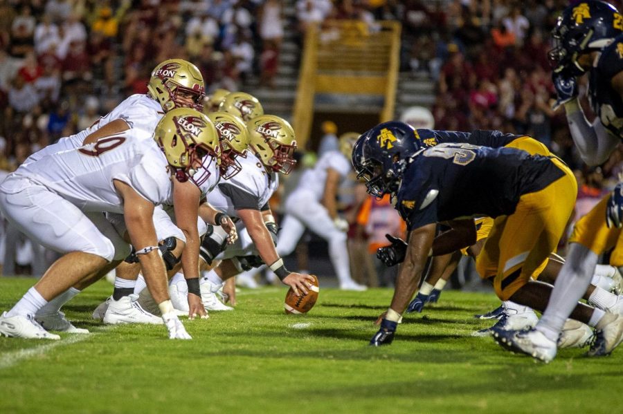
<path fill-rule="evenodd" d="M 208 196 L 215 208 L 236 218 L 239 238 L 225 248 L 224 234 L 218 227 L 206 236 L 201 256 L 208 264 L 215 259 L 222 262 L 202 278 L 201 290 L 215 293 L 242 270 L 267 263 L 297 296 L 299 292 L 307 294 L 313 278 L 286 269 L 275 248 L 277 225 L 268 205 L 278 187 L 278 173 L 289 173 L 296 162 L 294 130 L 280 117 L 262 115 L 247 124 L 247 131 L 250 151 L 246 158 L 238 158 L 240 173 L 220 183 Z"/>

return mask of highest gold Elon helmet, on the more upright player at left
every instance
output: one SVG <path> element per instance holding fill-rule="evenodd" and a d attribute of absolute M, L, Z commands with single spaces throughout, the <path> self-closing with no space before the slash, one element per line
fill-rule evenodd
<path fill-rule="evenodd" d="M 165 112 L 182 106 L 201 111 L 204 104 L 204 77 L 197 66 L 183 59 L 165 60 L 156 66 L 147 90 Z M 190 95 L 192 103 L 181 93 Z"/>

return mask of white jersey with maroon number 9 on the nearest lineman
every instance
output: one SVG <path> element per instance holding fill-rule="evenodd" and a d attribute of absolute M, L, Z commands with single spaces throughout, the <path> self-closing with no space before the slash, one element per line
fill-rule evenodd
<path fill-rule="evenodd" d="M 48 187 L 82 211 L 123 213 L 123 200 L 113 180 L 125 182 L 154 205 L 170 204 L 172 182 L 168 162 L 155 142 L 145 144 L 149 136 L 142 129 L 129 129 L 93 144 L 22 164 L 14 174 Z M 6 182 L 0 189 L 8 193 L 20 190 Z"/>

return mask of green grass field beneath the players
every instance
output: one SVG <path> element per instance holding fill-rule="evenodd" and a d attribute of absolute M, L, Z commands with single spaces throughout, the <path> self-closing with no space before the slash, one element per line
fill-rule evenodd
<path fill-rule="evenodd" d="M 33 279 L 0 278 L 7 310 Z M 192 341 L 162 326 L 103 326 L 91 311 L 111 292 L 93 285 L 66 305 L 91 335 L 0 339 L 0 413 L 613 413 L 623 349 L 551 364 L 512 355 L 473 314 L 493 294 L 444 292 L 408 315 L 394 344 L 369 347 L 390 290 L 321 289 L 308 315 L 282 311 L 285 288 L 243 290 L 233 312 L 186 321 Z M 617 408 L 618 407 L 618 408 Z"/>

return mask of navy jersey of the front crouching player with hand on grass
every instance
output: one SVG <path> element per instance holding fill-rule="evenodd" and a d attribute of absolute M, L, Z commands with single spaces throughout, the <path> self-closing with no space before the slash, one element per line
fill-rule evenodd
<path fill-rule="evenodd" d="M 548 157 L 514 148 L 438 144 L 404 172 L 396 209 L 409 230 L 445 220 L 512 214 L 523 194 L 564 175 Z"/>

